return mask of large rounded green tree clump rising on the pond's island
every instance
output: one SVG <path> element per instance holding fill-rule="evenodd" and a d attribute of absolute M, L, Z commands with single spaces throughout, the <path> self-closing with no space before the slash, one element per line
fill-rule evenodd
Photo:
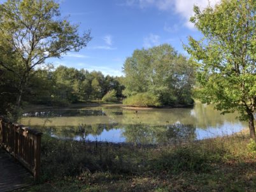
<path fill-rule="evenodd" d="M 135 50 L 125 60 L 124 73 L 123 93 L 127 97 L 148 92 L 153 102 L 158 99 L 157 106 L 193 102 L 194 67 L 170 45 Z"/>

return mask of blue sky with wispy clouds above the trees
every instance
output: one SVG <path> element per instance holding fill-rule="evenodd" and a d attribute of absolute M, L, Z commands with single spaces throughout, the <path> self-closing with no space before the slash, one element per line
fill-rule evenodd
<path fill-rule="evenodd" d="M 169 43 L 185 55 L 182 43 L 200 37 L 188 22 L 193 4 L 204 8 L 208 0 L 61 0 L 62 17 L 69 15 L 81 32 L 91 29 L 92 40 L 79 52 L 49 61 L 121 76 L 125 58 L 136 49 Z"/>

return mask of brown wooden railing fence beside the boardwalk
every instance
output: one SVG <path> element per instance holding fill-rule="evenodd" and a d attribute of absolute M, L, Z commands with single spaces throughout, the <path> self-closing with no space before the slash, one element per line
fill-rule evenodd
<path fill-rule="evenodd" d="M 0 118 L 0 146 L 20 161 L 38 179 L 41 161 L 41 133 Z"/>

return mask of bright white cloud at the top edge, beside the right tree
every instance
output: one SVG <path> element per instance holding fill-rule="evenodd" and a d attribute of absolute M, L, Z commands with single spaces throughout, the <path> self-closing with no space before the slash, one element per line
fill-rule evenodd
<path fill-rule="evenodd" d="M 189 22 L 194 11 L 194 5 L 196 4 L 203 10 L 206 6 L 215 6 L 221 0 L 126 0 L 125 5 L 127 6 L 139 6 L 139 8 L 155 7 L 161 11 L 174 11 L 180 15 L 181 19 L 184 20 L 185 26 L 193 28 L 193 24 Z"/>

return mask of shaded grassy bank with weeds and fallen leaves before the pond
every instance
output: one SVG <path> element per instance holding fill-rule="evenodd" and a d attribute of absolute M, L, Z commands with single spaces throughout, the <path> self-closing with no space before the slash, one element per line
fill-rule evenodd
<path fill-rule="evenodd" d="M 253 142 L 239 134 L 132 146 L 44 135 L 41 179 L 18 191 L 256 191 Z"/>

